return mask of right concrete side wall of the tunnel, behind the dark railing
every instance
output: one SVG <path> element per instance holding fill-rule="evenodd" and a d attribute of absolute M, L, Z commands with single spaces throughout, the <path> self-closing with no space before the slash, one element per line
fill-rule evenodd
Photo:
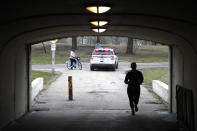
<path fill-rule="evenodd" d="M 197 129 L 197 54 L 190 46 L 173 46 L 172 49 L 172 111 L 176 113 L 176 85 L 191 89 L 194 95 L 194 119 Z"/>

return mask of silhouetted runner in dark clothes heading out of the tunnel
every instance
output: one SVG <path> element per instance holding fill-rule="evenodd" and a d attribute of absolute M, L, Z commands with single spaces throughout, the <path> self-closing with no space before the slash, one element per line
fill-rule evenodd
<path fill-rule="evenodd" d="M 135 115 L 135 112 L 138 111 L 137 104 L 140 97 L 140 84 L 142 84 L 144 78 L 142 72 L 136 69 L 137 64 L 135 62 L 131 63 L 131 68 L 132 70 L 126 74 L 124 82 L 125 84 L 128 84 L 127 94 L 129 97 L 132 115 Z"/>

